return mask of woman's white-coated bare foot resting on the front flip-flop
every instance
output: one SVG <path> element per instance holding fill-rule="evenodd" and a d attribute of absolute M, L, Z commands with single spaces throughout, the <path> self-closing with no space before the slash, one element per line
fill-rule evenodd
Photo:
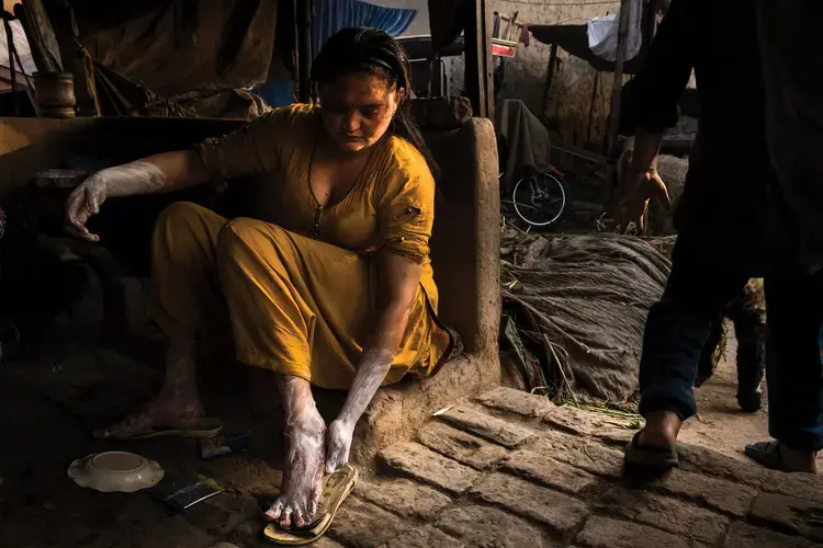
<path fill-rule="evenodd" d="M 304 527 L 317 513 L 326 456 L 326 423 L 314 406 L 286 425 L 285 439 L 283 486 L 264 517 L 283 528 Z"/>

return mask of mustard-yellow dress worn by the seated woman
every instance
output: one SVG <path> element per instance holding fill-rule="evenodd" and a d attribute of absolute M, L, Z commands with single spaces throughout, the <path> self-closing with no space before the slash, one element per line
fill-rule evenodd
<path fill-rule="evenodd" d="M 228 318 L 238 361 L 346 389 L 372 329 L 372 256 L 388 249 L 420 263 L 422 276 L 384 385 L 429 376 L 454 347 L 437 320 L 431 172 L 409 142 L 386 135 L 351 192 L 319 207 L 308 169 L 322 130 L 315 106 L 293 105 L 196 147 L 214 182 L 271 175 L 266 206 L 277 224 L 170 206 L 155 228 L 150 315 L 167 334 L 200 339 L 219 338 Z"/>

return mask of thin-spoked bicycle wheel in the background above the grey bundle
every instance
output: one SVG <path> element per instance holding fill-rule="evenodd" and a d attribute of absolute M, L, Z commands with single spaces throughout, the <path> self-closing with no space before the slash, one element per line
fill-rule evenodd
<path fill-rule="evenodd" d="M 534 227 L 556 222 L 566 207 L 566 190 L 552 173 L 521 179 L 511 194 L 518 217 Z"/>

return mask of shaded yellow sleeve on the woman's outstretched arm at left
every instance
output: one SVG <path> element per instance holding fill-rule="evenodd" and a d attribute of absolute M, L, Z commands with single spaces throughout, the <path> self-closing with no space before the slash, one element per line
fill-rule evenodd
<path fill-rule="evenodd" d="M 194 147 L 208 179 L 230 179 L 280 170 L 283 138 L 294 121 L 294 107 L 274 109 L 223 137 L 210 137 Z"/>

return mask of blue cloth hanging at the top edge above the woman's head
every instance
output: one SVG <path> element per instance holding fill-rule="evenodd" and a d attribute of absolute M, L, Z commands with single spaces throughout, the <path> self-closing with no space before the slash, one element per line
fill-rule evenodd
<path fill-rule="evenodd" d="M 398 36 L 408 28 L 417 10 L 385 8 L 360 0 L 315 0 L 314 54 L 331 35 L 350 26 L 371 26 Z"/>

